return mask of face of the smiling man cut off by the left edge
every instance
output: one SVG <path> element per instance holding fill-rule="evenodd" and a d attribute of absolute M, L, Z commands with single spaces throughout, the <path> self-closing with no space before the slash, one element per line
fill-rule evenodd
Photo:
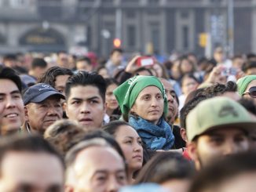
<path fill-rule="evenodd" d="M 2 134 L 20 129 L 24 121 L 24 103 L 16 84 L 0 79 L 0 128 Z"/>

